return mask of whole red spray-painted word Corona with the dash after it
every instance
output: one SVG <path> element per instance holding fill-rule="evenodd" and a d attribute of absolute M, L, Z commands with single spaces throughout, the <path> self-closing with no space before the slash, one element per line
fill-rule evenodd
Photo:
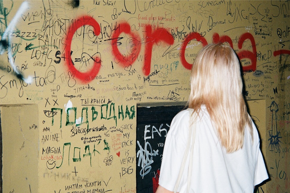
<path fill-rule="evenodd" d="M 68 70 L 75 74 L 75 78 L 79 79 L 81 82 L 86 82 L 85 78 L 87 76 L 96 76 L 98 74 L 101 67 L 101 60 L 100 58 L 94 58 L 93 68 L 84 73 L 79 72 L 74 67 L 73 62 L 70 57 L 71 42 L 72 42 L 73 35 L 75 34 L 76 30 L 83 25 L 93 26 L 95 35 L 100 34 L 100 26 L 97 23 L 97 21 L 95 21 L 95 19 L 93 19 L 90 16 L 80 17 L 79 19 L 77 19 L 76 25 L 68 29 L 67 36 L 66 36 L 67 42 L 66 42 L 65 52 L 68 55 L 68 60 L 66 61 Z M 143 73 L 145 76 L 148 76 L 150 74 L 150 69 L 151 69 L 152 47 L 154 46 L 154 44 L 162 42 L 164 45 L 173 45 L 174 38 L 164 28 L 158 28 L 152 31 L 151 25 L 146 25 L 144 31 L 145 31 L 144 36 L 147 38 L 147 41 L 145 43 L 144 56 L 146 56 L 145 58 L 147 59 L 144 60 Z M 131 42 L 130 52 L 128 52 L 127 50 L 129 54 L 121 53 L 119 51 L 118 46 L 121 43 L 118 41 L 122 39 L 122 37 L 120 37 L 122 33 L 126 34 L 126 36 L 127 35 L 129 36 L 128 38 L 129 43 Z M 182 43 L 182 48 L 180 49 L 180 60 L 181 60 L 182 65 L 186 69 L 191 69 L 191 66 L 192 66 L 192 64 L 188 63 L 185 58 L 186 46 L 191 40 L 199 41 L 202 43 L 203 46 L 206 46 L 208 44 L 206 39 L 197 32 L 190 32 L 186 36 L 185 41 Z M 242 50 L 243 43 L 246 40 L 251 41 L 252 51 L 244 50 L 244 49 Z M 233 41 L 227 35 L 220 36 L 219 34 L 215 33 L 212 36 L 212 42 L 213 43 L 229 43 L 229 45 L 233 48 Z M 115 57 L 115 62 L 120 64 L 122 67 L 126 67 L 128 65 L 132 65 L 136 61 L 140 53 L 140 50 L 141 50 L 140 37 L 138 34 L 131 31 L 131 27 L 127 22 L 124 22 L 119 25 L 119 30 L 113 33 L 113 36 L 111 39 L 111 46 L 112 46 L 112 54 Z M 255 71 L 256 66 L 257 66 L 257 60 L 256 60 L 257 50 L 256 50 L 256 45 L 255 45 L 255 40 L 254 40 L 253 35 L 250 33 L 242 34 L 238 41 L 238 48 L 240 49 L 240 51 L 237 52 L 237 55 L 240 60 L 243 58 L 248 58 L 251 60 L 251 65 L 246 65 L 242 67 L 243 71 L 249 71 L 249 70 Z M 289 50 L 278 50 L 274 52 L 274 56 L 277 56 L 280 54 L 289 54 L 289 53 L 290 53 Z"/>

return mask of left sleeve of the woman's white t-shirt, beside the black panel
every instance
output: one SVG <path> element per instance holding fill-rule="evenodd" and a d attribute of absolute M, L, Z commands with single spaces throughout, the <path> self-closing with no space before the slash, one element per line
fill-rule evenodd
<path fill-rule="evenodd" d="M 189 112 L 178 113 L 172 120 L 163 149 L 159 185 L 173 191 L 177 181 L 186 143 L 188 141 Z"/>

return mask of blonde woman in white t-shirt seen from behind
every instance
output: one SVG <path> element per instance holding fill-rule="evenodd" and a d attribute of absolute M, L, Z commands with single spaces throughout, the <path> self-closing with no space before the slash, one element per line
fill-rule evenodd
<path fill-rule="evenodd" d="M 252 193 L 255 185 L 268 179 L 258 132 L 247 112 L 242 89 L 240 63 L 233 49 L 223 44 L 205 46 L 191 70 L 188 105 L 198 115 L 194 119 L 192 172 L 187 172 L 187 156 L 177 192 L 186 192 L 190 175 L 189 192 L 195 193 Z M 171 122 L 156 193 L 174 191 L 193 115 L 183 110 Z"/>

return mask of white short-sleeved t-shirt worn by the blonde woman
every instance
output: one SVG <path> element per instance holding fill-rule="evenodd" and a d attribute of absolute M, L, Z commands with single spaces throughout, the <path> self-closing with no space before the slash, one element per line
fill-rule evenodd
<path fill-rule="evenodd" d="M 160 169 L 159 185 L 174 191 L 182 158 L 189 135 L 189 110 L 183 110 L 173 118 L 166 136 Z M 202 192 L 251 192 L 254 185 L 268 179 L 267 170 L 260 151 L 260 140 L 253 125 L 253 143 L 249 129 L 245 129 L 242 149 L 226 153 L 221 146 L 217 131 L 202 106 L 196 125 L 193 149 L 193 167 L 190 191 Z M 189 151 L 190 152 L 190 151 Z M 177 192 L 186 192 L 189 157 L 187 157 L 180 186 Z"/>

